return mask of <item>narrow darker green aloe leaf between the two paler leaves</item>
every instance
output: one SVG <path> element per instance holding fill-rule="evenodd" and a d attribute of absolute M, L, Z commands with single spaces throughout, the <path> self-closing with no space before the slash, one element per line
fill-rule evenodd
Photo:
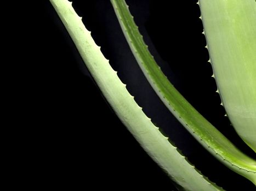
<path fill-rule="evenodd" d="M 147 49 L 126 2 L 111 0 L 111 3 L 136 61 L 170 112 L 221 163 L 256 184 L 255 160 L 238 150 L 173 87 Z"/>

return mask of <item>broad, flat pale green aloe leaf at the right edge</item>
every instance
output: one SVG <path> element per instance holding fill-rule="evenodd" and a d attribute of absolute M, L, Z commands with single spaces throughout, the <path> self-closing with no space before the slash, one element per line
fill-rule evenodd
<path fill-rule="evenodd" d="M 256 152 L 256 2 L 203 0 L 200 9 L 227 116 Z"/>

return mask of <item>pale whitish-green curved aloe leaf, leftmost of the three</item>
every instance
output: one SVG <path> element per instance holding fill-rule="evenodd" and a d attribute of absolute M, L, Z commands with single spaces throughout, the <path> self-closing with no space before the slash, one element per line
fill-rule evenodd
<path fill-rule="evenodd" d="M 88 70 L 95 79 L 116 115 L 134 135 L 141 146 L 169 176 L 185 190 L 223 190 L 203 177 L 177 151 L 136 104 L 117 76 L 100 47 L 94 43 L 81 17 L 66 0 L 50 0 L 64 23 Z"/>

